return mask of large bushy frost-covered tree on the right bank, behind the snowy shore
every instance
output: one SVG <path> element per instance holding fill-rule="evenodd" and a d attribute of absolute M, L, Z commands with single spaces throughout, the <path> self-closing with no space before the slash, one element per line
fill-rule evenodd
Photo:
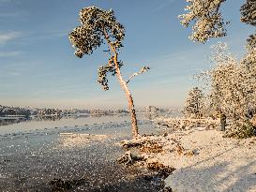
<path fill-rule="evenodd" d="M 212 68 L 199 77 L 206 80 L 212 113 L 223 113 L 231 120 L 229 136 L 253 135 L 249 120 L 256 109 L 256 68 L 247 66 L 244 59 L 238 61 L 225 43 L 213 46 L 211 62 Z"/>

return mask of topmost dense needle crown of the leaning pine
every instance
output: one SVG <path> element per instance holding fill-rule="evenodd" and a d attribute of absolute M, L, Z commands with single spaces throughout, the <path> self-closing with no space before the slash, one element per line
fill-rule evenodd
<path fill-rule="evenodd" d="M 125 28 L 116 21 L 112 9 L 105 11 L 99 7 L 85 7 L 80 11 L 80 22 L 81 26 L 68 36 L 78 57 L 92 54 L 103 43 L 105 36 L 109 37 L 115 49 L 123 47 Z"/>

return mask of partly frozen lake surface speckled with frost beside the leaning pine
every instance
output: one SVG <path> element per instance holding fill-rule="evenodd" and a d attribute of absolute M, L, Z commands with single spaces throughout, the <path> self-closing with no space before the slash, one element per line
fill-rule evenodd
<path fill-rule="evenodd" d="M 157 129 L 139 115 L 141 134 Z M 159 178 L 115 163 L 129 116 L 0 126 L 0 191 L 158 191 Z"/>

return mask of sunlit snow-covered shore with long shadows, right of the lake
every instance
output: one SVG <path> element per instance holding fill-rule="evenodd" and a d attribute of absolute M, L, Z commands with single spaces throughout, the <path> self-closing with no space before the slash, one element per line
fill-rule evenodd
<path fill-rule="evenodd" d="M 163 136 L 148 136 L 162 148 L 143 153 L 147 162 L 173 167 L 165 180 L 177 192 L 256 191 L 256 138 L 223 138 L 216 129 L 195 127 Z"/>

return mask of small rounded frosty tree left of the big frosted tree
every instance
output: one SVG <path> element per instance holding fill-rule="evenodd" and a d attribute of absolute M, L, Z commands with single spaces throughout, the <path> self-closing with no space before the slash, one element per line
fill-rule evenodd
<path fill-rule="evenodd" d="M 202 118 L 204 114 L 203 110 L 203 91 L 198 87 L 194 87 L 188 92 L 183 113 L 187 118 Z"/>

